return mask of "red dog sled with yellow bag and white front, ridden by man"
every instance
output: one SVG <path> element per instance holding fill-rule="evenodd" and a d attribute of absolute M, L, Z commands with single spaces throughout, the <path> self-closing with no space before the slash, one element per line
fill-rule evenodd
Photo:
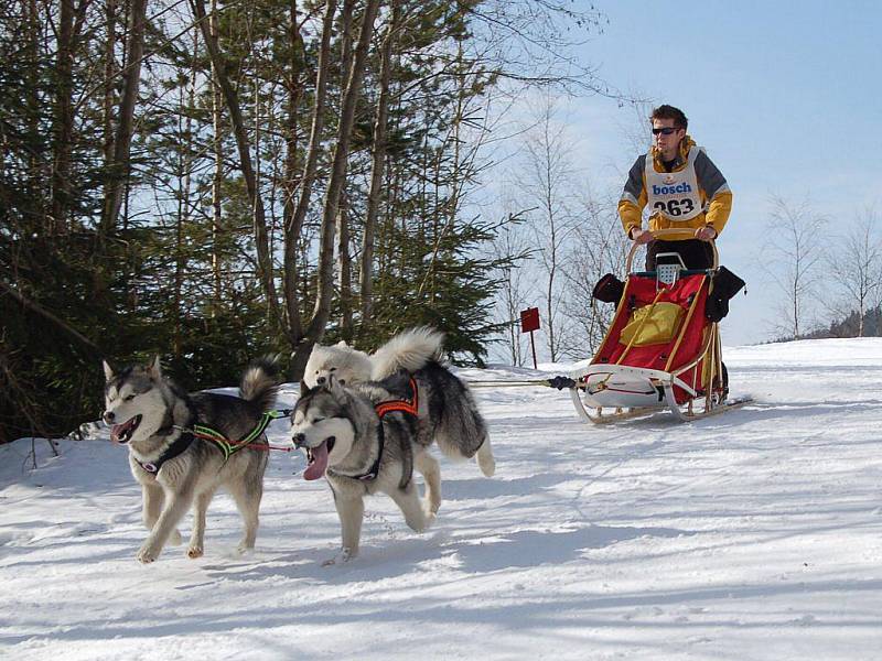
<path fill-rule="evenodd" d="M 663 229 L 658 239 L 692 238 L 692 230 Z M 602 424 L 669 411 L 679 421 L 717 415 L 749 403 L 729 400 L 720 351 L 719 324 L 706 318 L 711 282 L 719 268 L 688 270 L 659 263 L 655 271 L 634 272 L 634 243 L 628 273 L 615 316 L 588 367 L 570 372 L 577 412 Z M 743 283 L 742 283 L 743 284 Z"/>

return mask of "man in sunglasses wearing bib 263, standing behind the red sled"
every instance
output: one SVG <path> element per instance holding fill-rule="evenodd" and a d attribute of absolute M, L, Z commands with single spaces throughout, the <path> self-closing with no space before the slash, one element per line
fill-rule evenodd
<path fill-rule="evenodd" d="M 659 252 L 677 252 L 687 269 L 709 269 L 709 241 L 723 230 L 732 210 L 732 192 L 704 150 L 687 134 L 682 110 L 659 106 L 649 118 L 653 141 L 628 173 L 619 201 L 619 216 L 628 238 L 648 243 L 646 270 L 655 270 Z M 643 209 L 649 205 L 649 229 L 643 229 Z M 691 229 L 693 239 L 656 240 L 654 229 Z"/>

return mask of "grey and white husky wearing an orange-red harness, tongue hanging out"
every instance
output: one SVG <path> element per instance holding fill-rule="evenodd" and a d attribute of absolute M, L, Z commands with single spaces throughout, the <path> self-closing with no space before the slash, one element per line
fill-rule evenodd
<path fill-rule="evenodd" d="M 334 494 L 345 562 L 358 554 L 364 497 L 391 497 L 415 531 L 428 529 L 441 506 L 441 473 L 430 454 L 433 441 L 454 459 L 476 457 L 482 473 L 495 472 L 486 425 L 460 379 L 429 360 L 413 373 L 398 371 L 352 388 L 333 376 L 301 394 L 292 413 L 291 440 L 305 449 L 305 479 L 324 475 Z M 426 484 L 421 501 L 413 469 Z"/>

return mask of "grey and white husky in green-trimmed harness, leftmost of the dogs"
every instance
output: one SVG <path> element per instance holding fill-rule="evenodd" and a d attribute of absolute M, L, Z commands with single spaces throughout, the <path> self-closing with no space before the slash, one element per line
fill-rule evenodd
<path fill-rule="evenodd" d="M 163 377 L 159 357 L 147 367 L 129 367 L 119 373 L 105 361 L 104 371 L 104 420 L 112 425 L 110 440 L 129 446 L 129 466 L 142 489 L 143 523 L 150 530 L 136 557 L 150 563 L 166 542 L 180 544 L 176 525 L 191 503 L 193 531 L 186 554 L 202 556 L 205 512 L 218 487 L 233 496 L 245 524 L 239 552 L 254 549 L 269 454 L 258 425 L 276 401 L 275 362 L 256 360 L 245 370 L 240 398 L 187 394 Z M 197 425 L 223 437 L 194 436 Z M 247 445 L 237 443 L 254 432 L 259 435 Z"/>

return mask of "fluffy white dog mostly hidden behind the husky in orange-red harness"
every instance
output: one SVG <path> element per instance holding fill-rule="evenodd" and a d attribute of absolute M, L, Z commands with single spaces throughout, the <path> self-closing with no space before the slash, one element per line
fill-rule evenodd
<path fill-rule="evenodd" d="M 315 388 L 333 375 L 341 386 L 354 386 L 381 381 L 399 370 L 415 372 L 429 359 L 440 357 L 443 340 L 443 334 L 423 326 L 395 336 L 370 356 L 344 340 L 334 346 L 316 344 L 306 361 L 303 380 Z"/>

